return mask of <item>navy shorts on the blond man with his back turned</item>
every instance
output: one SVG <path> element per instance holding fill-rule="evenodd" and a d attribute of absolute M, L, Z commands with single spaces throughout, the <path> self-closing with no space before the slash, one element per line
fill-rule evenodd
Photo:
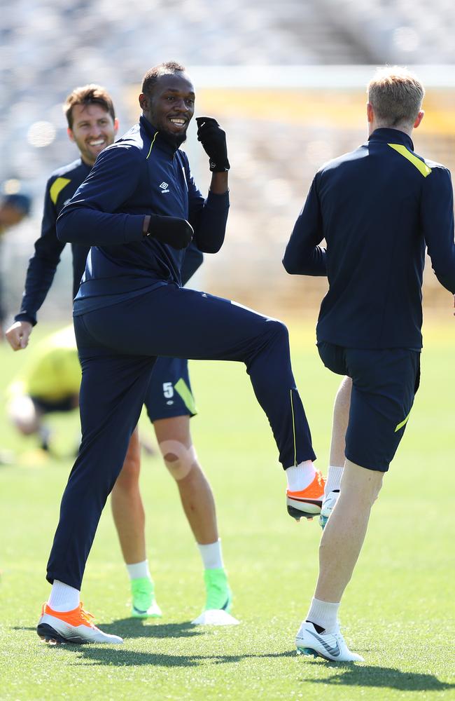
<path fill-rule="evenodd" d="M 419 389 L 420 353 L 408 348 L 363 350 L 321 341 L 325 367 L 352 379 L 346 458 L 387 472 Z"/>

